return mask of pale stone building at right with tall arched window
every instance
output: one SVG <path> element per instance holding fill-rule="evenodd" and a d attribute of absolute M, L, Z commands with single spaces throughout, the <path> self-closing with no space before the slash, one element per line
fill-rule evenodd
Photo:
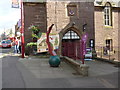
<path fill-rule="evenodd" d="M 120 0 L 95 0 L 94 5 L 96 52 L 120 61 Z"/>

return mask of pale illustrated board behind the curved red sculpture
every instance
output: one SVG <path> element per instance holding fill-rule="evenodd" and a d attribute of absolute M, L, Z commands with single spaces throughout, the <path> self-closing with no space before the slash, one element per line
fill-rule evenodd
<path fill-rule="evenodd" d="M 59 35 L 50 33 L 49 35 L 50 43 L 54 50 L 58 49 L 59 46 Z M 48 46 L 46 43 L 46 33 L 42 33 L 41 37 L 37 41 L 37 52 L 48 52 Z"/>

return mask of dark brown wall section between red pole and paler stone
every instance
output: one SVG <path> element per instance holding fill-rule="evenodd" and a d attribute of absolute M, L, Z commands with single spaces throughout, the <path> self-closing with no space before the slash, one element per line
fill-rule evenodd
<path fill-rule="evenodd" d="M 24 3 L 24 36 L 25 44 L 32 41 L 30 25 L 36 25 L 41 32 L 46 32 L 46 4 L 45 3 Z"/>

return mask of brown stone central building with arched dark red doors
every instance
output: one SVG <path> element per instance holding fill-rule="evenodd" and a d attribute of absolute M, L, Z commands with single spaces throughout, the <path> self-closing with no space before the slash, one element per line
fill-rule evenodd
<path fill-rule="evenodd" d="M 88 33 L 87 47 L 90 41 L 94 41 L 94 2 L 24 2 L 23 7 L 25 43 L 31 41 L 28 30 L 31 24 L 37 25 L 41 32 L 46 32 L 51 24 L 55 24 L 52 33 L 59 35 L 59 55 L 77 57 L 85 32 Z"/>

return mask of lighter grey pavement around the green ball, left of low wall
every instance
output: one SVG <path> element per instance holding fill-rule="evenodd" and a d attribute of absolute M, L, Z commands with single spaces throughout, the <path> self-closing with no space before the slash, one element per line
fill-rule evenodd
<path fill-rule="evenodd" d="M 76 71 L 61 61 L 59 67 L 50 67 L 48 63 L 48 58 L 20 58 L 20 63 L 26 67 L 30 72 L 32 72 L 38 78 L 69 78 L 75 77 L 73 73 Z M 79 76 L 81 77 L 81 76 Z"/>

